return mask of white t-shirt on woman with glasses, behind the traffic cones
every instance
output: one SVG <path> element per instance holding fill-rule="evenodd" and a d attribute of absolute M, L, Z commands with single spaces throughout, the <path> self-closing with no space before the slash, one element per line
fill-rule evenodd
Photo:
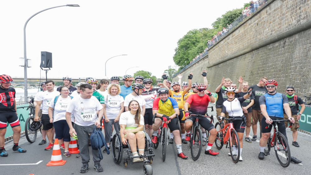
<path fill-rule="evenodd" d="M 62 96 L 59 96 L 56 101 L 55 107 L 54 107 L 54 99 L 55 97 L 53 98 L 52 103 L 50 103 L 49 105 L 49 107 L 54 108 L 53 122 L 56 122 L 58 120 L 66 120 L 66 117 L 65 117 L 66 110 L 71 101 L 71 97 L 68 96 L 66 99 L 63 99 Z"/>

